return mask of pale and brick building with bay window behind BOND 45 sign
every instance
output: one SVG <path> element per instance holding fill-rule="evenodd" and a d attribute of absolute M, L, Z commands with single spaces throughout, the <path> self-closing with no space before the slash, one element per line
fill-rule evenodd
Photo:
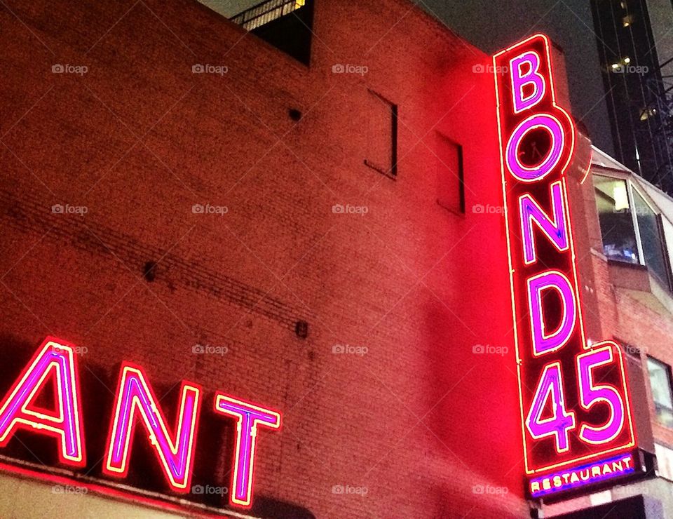
<path fill-rule="evenodd" d="M 586 270 L 585 297 L 597 302 L 595 322 L 600 330 L 596 333 L 623 346 L 630 364 L 639 444 L 656 461 L 642 480 L 552 504 L 548 513 L 568 518 L 592 517 L 592 513 L 622 517 L 621 506 L 634 506 L 637 517 L 668 517 L 673 510 L 673 201 L 615 159 L 597 148 L 593 151 L 582 197 L 591 264 Z M 639 515 L 648 507 L 649 515 Z M 586 515 L 570 512 L 577 510 Z"/>

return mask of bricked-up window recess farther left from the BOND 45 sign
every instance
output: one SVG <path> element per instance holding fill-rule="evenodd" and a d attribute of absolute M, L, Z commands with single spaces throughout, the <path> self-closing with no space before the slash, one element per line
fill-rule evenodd
<path fill-rule="evenodd" d="M 367 158 L 365 164 L 383 175 L 397 175 L 397 105 L 367 90 Z"/>

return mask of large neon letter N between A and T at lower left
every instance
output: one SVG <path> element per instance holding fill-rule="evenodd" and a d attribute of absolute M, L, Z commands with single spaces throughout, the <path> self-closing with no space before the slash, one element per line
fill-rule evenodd
<path fill-rule="evenodd" d="M 182 429 L 182 425 L 184 424 L 184 407 L 186 405 L 186 394 L 188 391 L 193 391 L 194 393 L 193 397 L 194 405 L 193 405 L 193 412 L 191 415 L 191 429 L 189 433 L 189 446 L 187 447 L 187 459 L 186 459 L 186 468 L 183 483 L 175 481 L 175 479 L 173 478 L 173 473 L 168 466 L 168 460 L 166 460 L 164 457 L 163 450 L 161 449 L 161 447 L 159 447 L 157 443 L 155 443 L 152 440 L 154 433 L 152 432 L 151 426 L 148 423 L 148 417 L 144 412 L 144 408 L 142 407 L 142 405 L 136 403 L 137 398 L 132 398 L 130 404 L 128 405 L 130 409 L 125 410 L 125 412 L 127 412 L 129 415 L 128 426 L 126 427 L 126 431 L 119 433 L 124 435 L 124 449 L 123 449 L 123 456 L 121 458 L 121 467 L 113 466 L 111 464 L 113 457 L 112 450 L 114 447 L 113 439 L 116 436 L 115 433 L 118 428 L 118 422 L 121 419 L 121 411 L 122 411 L 121 400 L 123 397 L 123 388 L 125 386 L 125 381 L 127 379 L 128 372 L 134 372 L 135 376 L 138 379 L 140 379 L 140 383 L 142 384 L 145 393 L 151 400 L 152 407 L 156 408 L 158 424 L 161 427 L 163 435 L 165 436 L 168 448 L 173 454 L 177 454 L 179 450 L 179 431 Z M 117 391 L 115 393 L 114 414 L 110 423 L 109 433 L 107 436 L 107 443 L 105 449 L 106 450 L 105 464 L 104 466 L 102 466 L 102 471 L 107 476 L 112 476 L 114 478 L 125 478 L 126 476 L 128 476 L 128 468 L 130 465 L 129 462 L 133 447 L 133 443 L 131 440 L 135 433 L 135 426 L 138 422 L 137 412 L 139 412 L 140 416 L 142 417 L 142 424 L 145 427 L 145 431 L 147 431 L 147 438 L 149 440 L 150 445 L 153 447 L 154 454 L 156 455 L 156 458 L 159 461 L 161 468 L 163 469 L 163 476 L 166 478 L 166 482 L 168 483 L 169 487 L 175 492 L 181 492 L 181 493 L 189 492 L 190 490 L 189 485 L 191 483 L 191 476 L 194 462 L 194 456 L 193 456 L 194 447 L 196 445 L 196 436 L 198 433 L 198 418 L 200 416 L 201 386 L 198 386 L 197 384 L 193 384 L 192 382 L 188 382 L 186 380 L 182 381 L 182 387 L 180 389 L 181 396 L 177 403 L 178 416 L 175 431 L 173 433 L 173 436 L 175 437 L 174 440 L 173 438 L 171 438 L 171 435 L 168 429 L 166 428 L 166 419 L 163 412 L 161 411 L 161 407 L 159 407 L 158 405 L 159 400 L 157 400 L 156 395 L 154 394 L 154 389 L 147 382 L 147 378 L 148 378 L 147 374 L 144 372 L 144 369 L 140 365 L 129 362 L 122 363 L 121 370 L 119 372 Z"/>

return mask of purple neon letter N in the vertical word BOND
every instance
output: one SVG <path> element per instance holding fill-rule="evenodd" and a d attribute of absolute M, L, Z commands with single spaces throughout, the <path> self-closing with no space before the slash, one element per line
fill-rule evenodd
<path fill-rule="evenodd" d="M 543 212 L 531 195 L 525 194 L 519 198 L 519 213 L 524 241 L 524 261 L 526 264 L 533 263 L 537 259 L 533 237 L 533 222 L 538 225 L 557 250 L 562 251 L 568 248 L 566 205 L 564 203 L 561 182 L 555 182 L 550 186 L 550 194 L 554 220 Z"/>

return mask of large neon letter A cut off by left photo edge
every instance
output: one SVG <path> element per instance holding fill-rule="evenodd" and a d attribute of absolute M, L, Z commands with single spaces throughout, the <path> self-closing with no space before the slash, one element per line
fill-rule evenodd
<path fill-rule="evenodd" d="M 23 417 L 18 417 L 17 414 L 14 415 L 12 421 L 7 427 L 5 433 L 1 436 L 0 447 L 5 447 L 7 443 L 13 438 L 14 433 L 17 429 L 25 429 L 27 431 L 32 431 L 34 433 L 47 434 L 55 438 L 60 439 L 60 449 L 58 451 L 59 461 L 65 465 L 72 466 L 85 466 L 86 465 L 86 447 L 84 442 L 84 429 L 83 423 L 81 420 L 81 393 L 79 391 L 79 370 L 77 369 L 77 356 L 74 353 L 74 344 L 66 342 L 62 339 L 57 339 L 56 337 L 46 337 L 40 345 L 39 349 L 34 353 L 29 363 L 26 365 L 24 370 L 21 372 L 19 377 L 12 384 L 9 391 L 7 391 L 5 398 L 2 400 L 0 405 L 0 414 L 6 409 L 11 400 L 14 398 L 15 394 L 21 389 L 25 384 L 27 377 L 33 372 L 36 368 L 37 363 L 43 356 L 45 356 L 50 349 L 55 351 L 63 351 L 67 356 L 67 362 L 69 365 L 69 379 L 70 386 L 72 386 L 72 407 L 73 407 L 73 418 L 74 423 L 72 428 L 75 433 L 76 441 L 76 450 L 79 451 L 79 456 L 69 456 L 67 453 L 67 447 L 65 445 L 65 432 L 62 427 L 57 425 L 49 424 L 64 424 L 65 421 L 65 407 L 64 407 L 64 398 L 63 398 L 63 381 L 61 379 L 60 371 L 55 361 L 51 361 L 43 371 L 40 379 L 36 384 L 34 384 L 33 389 L 29 393 L 29 396 L 25 399 L 25 402 L 20 407 L 20 414 Z M 55 383 L 56 388 L 54 390 L 55 400 L 57 400 L 56 407 L 57 414 L 48 414 L 49 410 L 42 410 L 39 407 L 32 405 L 32 402 L 36 394 L 43 389 L 43 386 L 46 385 L 46 380 L 48 375 L 55 369 Z M 34 421 L 29 418 L 26 418 L 25 415 L 33 416 L 40 421 Z"/>

